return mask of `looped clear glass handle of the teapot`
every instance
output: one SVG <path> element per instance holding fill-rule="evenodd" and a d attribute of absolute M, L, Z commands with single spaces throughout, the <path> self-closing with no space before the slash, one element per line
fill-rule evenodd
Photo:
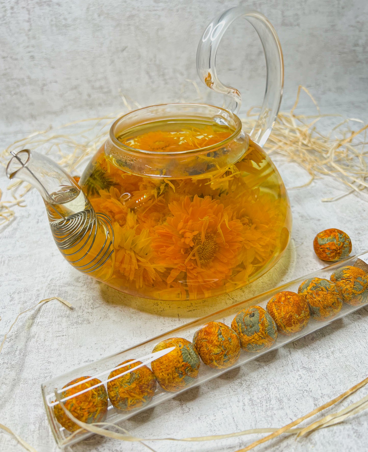
<path fill-rule="evenodd" d="M 237 114 L 241 105 L 239 91 L 223 85 L 217 77 L 215 61 L 221 38 L 235 19 L 244 17 L 261 39 L 266 57 L 267 81 L 263 105 L 250 137 L 263 146 L 275 124 L 280 108 L 284 81 L 284 64 L 280 41 L 275 29 L 263 14 L 249 11 L 243 6 L 228 9 L 215 17 L 204 31 L 197 49 L 196 65 L 200 79 L 217 93 L 225 94 L 225 108 Z"/>

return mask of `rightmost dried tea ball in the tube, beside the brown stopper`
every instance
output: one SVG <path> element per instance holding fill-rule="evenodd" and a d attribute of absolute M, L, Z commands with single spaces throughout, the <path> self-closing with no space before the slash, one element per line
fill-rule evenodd
<path fill-rule="evenodd" d="M 346 265 L 332 273 L 330 280 L 335 282 L 343 301 L 358 306 L 368 299 L 368 275 L 358 267 Z"/>

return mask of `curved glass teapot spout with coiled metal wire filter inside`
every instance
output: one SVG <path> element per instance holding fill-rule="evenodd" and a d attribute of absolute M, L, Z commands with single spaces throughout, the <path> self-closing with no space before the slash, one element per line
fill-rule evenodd
<path fill-rule="evenodd" d="M 109 217 L 96 214 L 76 181 L 53 160 L 29 149 L 12 155 L 7 176 L 37 188 L 64 258 L 94 278 L 110 278 L 114 269 L 114 233 Z"/>

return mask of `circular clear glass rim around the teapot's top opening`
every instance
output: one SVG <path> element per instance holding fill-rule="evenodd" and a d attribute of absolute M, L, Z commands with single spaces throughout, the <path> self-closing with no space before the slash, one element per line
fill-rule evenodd
<path fill-rule="evenodd" d="M 169 151 L 169 152 L 167 152 L 167 151 L 160 151 L 160 152 L 157 152 L 157 151 L 145 151 L 143 149 L 137 149 L 137 148 L 128 146 L 126 144 L 123 144 L 121 141 L 119 141 L 117 139 L 117 137 L 115 135 L 116 127 L 120 124 L 120 122 L 122 120 L 128 118 L 129 116 L 132 116 L 134 113 L 137 114 L 137 113 L 148 111 L 150 109 L 155 109 L 155 108 L 156 109 L 157 108 L 164 109 L 164 108 L 177 108 L 177 107 L 179 107 L 181 110 L 183 109 L 183 107 L 202 108 L 202 109 L 215 108 L 217 110 L 220 110 L 221 112 L 223 112 L 226 115 L 228 115 L 234 121 L 234 124 L 235 124 L 234 132 L 229 137 L 225 138 L 225 140 L 219 141 L 219 142 L 217 142 L 217 143 L 215 143 L 213 145 L 210 145 L 210 146 L 201 147 L 201 148 L 197 148 L 197 149 L 190 149 L 190 150 L 186 150 L 186 151 Z M 183 119 L 184 116 L 177 116 L 177 118 L 182 118 Z M 188 116 L 188 118 L 194 118 L 194 117 L 193 116 L 192 117 Z M 209 117 L 209 118 L 211 118 L 211 117 Z M 212 118 L 214 118 L 214 115 L 212 115 Z M 147 124 L 149 122 L 153 122 L 153 121 L 142 122 L 142 124 Z M 131 128 L 131 127 L 129 127 L 129 128 Z M 127 130 L 129 128 L 127 128 Z M 192 153 L 193 154 L 197 154 L 197 153 L 202 153 L 202 152 L 211 151 L 213 149 L 217 149 L 217 148 L 219 148 L 221 146 L 224 146 L 225 144 L 229 143 L 230 141 L 233 141 L 236 137 L 239 136 L 241 131 L 242 131 L 242 122 L 241 122 L 241 120 L 239 119 L 239 117 L 235 113 L 230 112 L 226 108 L 218 107 L 216 105 L 211 105 L 211 104 L 197 104 L 197 103 L 194 103 L 194 102 L 186 102 L 186 103 L 177 102 L 177 103 L 169 103 L 169 104 L 149 105 L 147 107 L 137 108 L 136 110 L 132 110 L 132 111 L 130 111 L 128 113 L 125 113 L 124 115 L 122 115 L 118 119 L 116 119 L 116 121 L 112 124 L 112 126 L 110 127 L 109 137 L 110 137 L 110 140 L 112 141 L 112 143 L 115 146 L 117 146 L 120 149 L 124 150 L 125 152 L 129 152 L 131 154 L 136 154 L 136 155 L 144 154 L 144 155 L 155 155 L 155 156 L 158 156 L 158 155 L 171 155 L 171 156 L 178 155 L 179 156 L 179 155 L 188 155 L 188 154 L 192 154 Z"/>

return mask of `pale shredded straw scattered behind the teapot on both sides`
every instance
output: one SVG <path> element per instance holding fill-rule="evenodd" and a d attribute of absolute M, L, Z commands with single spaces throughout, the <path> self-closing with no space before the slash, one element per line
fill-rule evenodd
<path fill-rule="evenodd" d="M 311 98 L 315 104 L 317 114 L 312 116 L 296 114 L 301 90 Z M 0 163 L 6 166 L 10 160 L 10 151 L 18 152 L 29 148 L 50 155 L 57 160 L 72 175 L 81 172 L 83 165 L 91 158 L 105 141 L 111 123 L 122 114 L 139 105 L 128 101 L 123 95 L 125 111 L 117 112 L 102 118 L 89 118 L 69 122 L 57 128 L 33 132 L 28 137 L 14 141 L 0 153 Z M 255 122 L 255 115 L 249 110 L 243 123 L 248 131 Z M 299 86 L 296 101 L 289 113 L 279 113 L 272 133 L 264 146 L 268 154 L 280 155 L 287 160 L 296 162 L 310 174 L 306 185 L 321 176 L 330 176 L 344 184 L 346 191 L 338 197 L 322 199 L 335 201 L 350 193 L 362 193 L 368 188 L 368 124 L 360 119 L 348 118 L 338 122 L 330 132 L 322 133 L 318 130 L 319 123 L 325 118 L 341 118 L 341 115 L 321 114 L 320 109 L 303 86 Z M 86 127 L 82 129 L 82 125 Z M 358 128 L 353 128 L 358 124 Z M 297 188 L 301 188 L 297 187 Z M 11 199 L 2 200 L 0 190 L 0 225 L 14 218 L 14 207 L 25 207 L 24 195 L 31 186 L 15 181 L 7 189 Z"/>

